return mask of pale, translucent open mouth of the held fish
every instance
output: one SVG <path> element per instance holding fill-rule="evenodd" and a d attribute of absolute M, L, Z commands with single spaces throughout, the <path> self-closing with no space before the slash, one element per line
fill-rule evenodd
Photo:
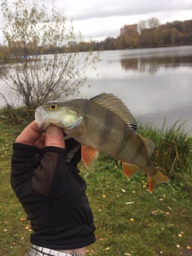
<path fill-rule="evenodd" d="M 36 108 L 35 121 L 37 122 L 39 130 L 41 132 L 45 132 L 46 128 L 50 125 L 50 122 L 45 121 L 46 116 L 47 113 L 44 111 L 44 108 L 42 106 Z"/>

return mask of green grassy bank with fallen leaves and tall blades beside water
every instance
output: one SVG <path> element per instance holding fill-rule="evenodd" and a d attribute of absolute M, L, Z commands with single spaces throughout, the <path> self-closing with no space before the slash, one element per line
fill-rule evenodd
<path fill-rule="evenodd" d="M 23 117 L 23 109 L 12 110 L 10 115 L 1 111 L 0 255 L 23 256 L 32 231 L 25 229 L 30 226 L 29 221 L 20 220 L 26 214 L 10 186 L 10 160 L 12 143 L 32 117 L 31 114 Z M 171 181 L 158 184 L 150 194 L 144 172 L 127 181 L 121 163 L 111 157 L 101 154 L 95 169 L 89 172 L 80 163 L 97 236 L 97 241 L 88 246 L 87 255 L 176 256 L 181 255 L 179 252 L 192 255 L 192 250 L 186 249 L 192 246 L 192 139 L 176 125 L 164 132 L 140 126 L 138 133 L 155 142 L 151 159 Z M 181 237 L 180 232 L 183 232 Z"/>

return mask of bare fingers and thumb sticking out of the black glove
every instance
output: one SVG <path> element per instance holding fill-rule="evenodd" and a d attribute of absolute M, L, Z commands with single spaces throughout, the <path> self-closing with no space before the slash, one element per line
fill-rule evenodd
<path fill-rule="evenodd" d="M 39 130 L 36 121 L 33 121 L 21 132 L 15 142 L 36 146 L 39 149 L 46 146 L 65 148 L 65 141 L 60 141 L 63 137 L 64 134 L 62 128 L 54 124 L 50 124 L 45 133 L 42 133 Z"/>

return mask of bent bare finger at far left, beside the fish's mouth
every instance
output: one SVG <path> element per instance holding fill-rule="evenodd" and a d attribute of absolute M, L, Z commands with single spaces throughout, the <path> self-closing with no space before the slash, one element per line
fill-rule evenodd
<path fill-rule="evenodd" d="M 35 145 L 35 142 L 41 137 L 41 135 L 42 132 L 40 132 L 38 124 L 36 121 L 33 121 L 21 132 L 15 142 Z"/>

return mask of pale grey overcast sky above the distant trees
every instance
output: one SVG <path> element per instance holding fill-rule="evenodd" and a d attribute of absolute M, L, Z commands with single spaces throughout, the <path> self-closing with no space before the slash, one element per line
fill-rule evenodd
<path fill-rule="evenodd" d="M 44 0 L 50 9 L 50 0 Z M 62 9 L 68 23 L 73 18 L 76 30 L 85 39 L 92 37 L 103 40 L 107 36 L 119 35 L 124 24 L 137 23 L 156 17 L 165 23 L 173 20 L 192 19 L 192 0 L 57 0 L 55 5 Z M 3 23 L 3 16 L 0 16 Z M 0 42 L 3 43 L 2 33 Z"/>

